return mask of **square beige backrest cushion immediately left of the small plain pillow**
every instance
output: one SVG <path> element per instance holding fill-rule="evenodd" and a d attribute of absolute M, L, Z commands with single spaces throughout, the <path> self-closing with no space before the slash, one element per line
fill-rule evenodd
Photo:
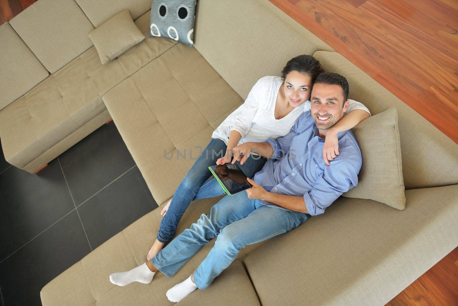
<path fill-rule="evenodd" d="M 74 0 L 37 1 L 10 24 L 51 73 L 93 45 L 87 33 L 94 27 Z"/>

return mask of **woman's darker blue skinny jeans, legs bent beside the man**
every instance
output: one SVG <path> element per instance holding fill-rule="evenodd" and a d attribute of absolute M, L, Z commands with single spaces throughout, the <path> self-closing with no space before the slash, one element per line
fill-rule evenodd
<path fill-rule="evenodd" d="M 202 150 L 201 155 L 176 189 L 169 209 L 161 220 L 156 236 L 160 242 L 172 240 L 178 223 L 191 201 L 224 194 L 223 188 L 219 185 L 218 180 L 213 177 L 208 167 L 216 165 L 216 161 L 226 154 L 226 150 L 227 146 L 224 141 L 216 138 L 212 138 L 207 147 Z M 250 156 L 242 165 L 239 162 L 236 163 L 246 176 L 252 178 L 256 172 L 262 169 L 265 162 L 266 158 L 256 159 Z"/>

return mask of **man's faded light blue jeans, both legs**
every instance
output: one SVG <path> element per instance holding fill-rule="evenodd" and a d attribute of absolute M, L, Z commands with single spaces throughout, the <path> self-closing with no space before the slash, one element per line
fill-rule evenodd
<path fill-rule="evenodd" d="M 194 272 L 194 282 L 197 288 L 203 290 L 229 267 L 241 248 L 286 233 L 309 217 L 308 213 L 265 206 L 260 200 L 249 199 L 245 190 L 240 191 L 221 199 L 210 213 L 203 213 L 151 262 L 170 278 L 202 246 L 218 236 L 215 245 Z"/>

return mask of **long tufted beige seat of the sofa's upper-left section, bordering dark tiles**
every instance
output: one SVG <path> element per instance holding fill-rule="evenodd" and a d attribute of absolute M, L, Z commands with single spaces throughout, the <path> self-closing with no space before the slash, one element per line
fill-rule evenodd
<path fill-rule="evenodd" d="M 145 22 L 149 22 L 149 12 L 135 21 L 147 34 Z M 0 110 L 6 161 L 33 173 L 86 137 L 110 119 L 102 95 L 174 44 L 169 39 L 147 36 L 105 65 L 91 47 L 46 77 Z"/>

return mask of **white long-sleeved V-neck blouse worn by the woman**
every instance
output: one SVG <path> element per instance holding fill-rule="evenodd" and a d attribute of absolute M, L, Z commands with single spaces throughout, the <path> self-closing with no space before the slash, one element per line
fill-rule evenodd
<path fill-rule="evenodd" d="M 310 111 L 310 101 L 295 107 L 288 115 L 275 119 L 275 104 L 278 90 L 283 83 L 279 76 L 264 76 L 251 88 L 245 103 L 232 112 L 218 128 L 213 131 L 212 138 L 229 142 L 230 131 L 235 130 L 242 135 L 238 145 L 245 142 L 264 142 L 267 138 L 285 136 L 294 125 L 294 121 L 303 113 Z M 349 100 L 345 114 L 354 109 L 369 112 L 360 102 Z"/>

